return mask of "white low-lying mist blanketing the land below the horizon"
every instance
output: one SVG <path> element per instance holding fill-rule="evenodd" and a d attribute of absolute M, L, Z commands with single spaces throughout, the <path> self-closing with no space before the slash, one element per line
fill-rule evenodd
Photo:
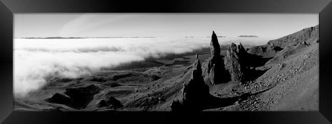
<path fill-rule="evenodd" d="M 264 45 L 275 38 L 218 38 Z M 145 58 L 160 58 L 209 47 L 210 38 L 14 39 L 14 95 L 24 97 L 47 83 L 47 77 L 78 78 Z"/>

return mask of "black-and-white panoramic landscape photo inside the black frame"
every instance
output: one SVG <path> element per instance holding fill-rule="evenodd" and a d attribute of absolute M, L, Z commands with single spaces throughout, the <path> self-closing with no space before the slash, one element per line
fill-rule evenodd
<path fill-rule="evenodd" d="M 14 14 L 14 111 L 318 111 L 318 14 Z"/>

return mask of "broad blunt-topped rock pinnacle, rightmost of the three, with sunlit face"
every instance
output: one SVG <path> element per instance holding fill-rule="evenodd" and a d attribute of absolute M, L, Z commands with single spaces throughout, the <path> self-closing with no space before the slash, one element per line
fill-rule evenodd
<path fill-rule="evenodd" d="M 244 79 L 244 57 L 245 49 L 242 44 L 236 47 L 235 44 L 231 44 L 227 50 L 227 54 L 224 57 L 225 68 L 228 70 L 232 81 L 242 81 Z"/>

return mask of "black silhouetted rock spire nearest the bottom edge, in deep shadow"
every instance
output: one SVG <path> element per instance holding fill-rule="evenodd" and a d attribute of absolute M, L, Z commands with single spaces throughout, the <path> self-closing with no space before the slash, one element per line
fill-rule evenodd
<path fill-rule="evenodd" d="M 205 84 L 198 55 L 193 64 L 192 76 L 189 82 L 183 83 L 182 96 L 180 101 L 173 101 L 172 111 L 181 110 L 201 110 L 209 98 L 209 87 Z"/>

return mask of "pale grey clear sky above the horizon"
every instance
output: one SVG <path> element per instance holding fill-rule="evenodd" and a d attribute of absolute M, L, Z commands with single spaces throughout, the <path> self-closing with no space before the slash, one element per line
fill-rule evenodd
<path fill-rule="evenodd" d="M 15 14 L 14 37 L 283 37 L 319 23 L 319 14 Z"/>

